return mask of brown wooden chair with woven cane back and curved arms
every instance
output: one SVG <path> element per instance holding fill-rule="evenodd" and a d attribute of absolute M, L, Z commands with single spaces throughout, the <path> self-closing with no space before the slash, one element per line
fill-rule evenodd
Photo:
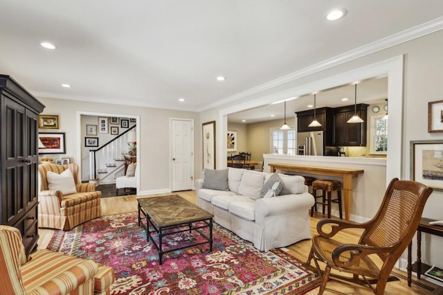
<path fill-rule="evenodd" d="M 322 276 L 318 294 L 323 294 L 329 278 L 366 287 L 375 294 L 383 294 L 392 267 L 417 231 L 424 204 L 431 193 L 432 188 L 417 181 L 395 178 L 390 181 L 379 211 L 372 220 L 362 224 L 320 220 L 317 224 L 318 235 L 312 238 L 307 260 L 309 264 L 314 259 L 318 273 Z M 339 231 L 350 228 L 363 229 L 358 244 L 343 244 L 332 239 Z M 372 254 L 381 258 L 383 264 L 380 268 L 370 257 Z M 326 265 L 323 273 L 319 261 Z M 331 274 L 331 269 L 353 276 Z M 377 285 L 373 287 L 373 284 Z"/>

